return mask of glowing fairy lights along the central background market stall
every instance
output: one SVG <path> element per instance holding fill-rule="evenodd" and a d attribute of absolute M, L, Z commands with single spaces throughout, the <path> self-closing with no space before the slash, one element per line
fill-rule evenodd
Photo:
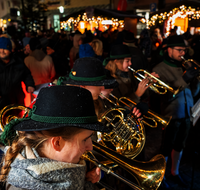
<path fill-rule="evenodd" d="M 113 30 L 118 28 L 124 28 L 124 20 L 118 20 L 115 18 L 108 19 L 107 17 L 93 16 L 89 18 L 86 13 L 83 15 L 78 15 L 76 18 L 70 17 L 67 21 L 61 21 L 60 23 L 61 29 L 69 27 L 72 28 L 86 28 L 88 25 L 90 28 L 99 28 L 100 25 L 104 27 L 104 29 L 108 29 L 108 25 L 112 25 Z"/>

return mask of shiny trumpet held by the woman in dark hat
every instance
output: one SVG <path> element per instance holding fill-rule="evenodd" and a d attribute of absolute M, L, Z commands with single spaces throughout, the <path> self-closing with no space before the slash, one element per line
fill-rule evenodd
<path fill-rule="evenodd" d="M 151 90 L 153 90 L 157 94 L 166 94 L 167 91 L 170 91 L 173 94 L 173 97 L 175 97 L 176 94 L 178 94 L 178 92 L 180 91 L 179 88 L 177 90 L 174 90 L 172 87 L 170 87 L 169 85 L 167 85 L 166 83 L 164 83 L 163 81 L 159 80 L 157 77 L 153 76 L 152 74 L 150 74 L 149 72 L 147 72 L 147 71 L 145 71 L 143 69 L 139 69 L 139 70 L 136 71 L 133 68 L 131 68 L 130 66 L 128 66 L 128 68 L 131 71 L 133 71 L 134 77 L 139 81 L 142 81 L 145 78 L 154 79 L 156 82 L 154 82 L 152 79 L 149 79 L 149 82 L 150 82 L 149 88 Z M 148 77 L 146 77 L 145 74 Z M 161 90 L 159 90 L 159 89 L 161 89 Z"/>

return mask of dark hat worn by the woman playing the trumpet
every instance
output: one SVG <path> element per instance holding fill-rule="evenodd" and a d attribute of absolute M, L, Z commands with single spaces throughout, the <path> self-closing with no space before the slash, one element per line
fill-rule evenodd
<path fill-rule="evenodd" d="M 110 57 L 106 58 L 103 62 L 103 66 L 106 66 L 109 60 L 113 59 L 124 59 L 126 57 L 131 57 L 131 52 L 129 47 L 124 44 L 118 44 L 112 47 L 110 51 Z"/>

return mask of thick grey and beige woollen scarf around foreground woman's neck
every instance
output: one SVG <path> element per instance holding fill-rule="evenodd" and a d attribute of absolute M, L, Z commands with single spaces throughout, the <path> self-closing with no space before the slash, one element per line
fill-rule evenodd
<path fill-rule="evenodd" d="M 6 190 L 95 190 L 85 181 L 86 164 L 59 162 L 42 158 L 34 148 L 26 147 L 11 164 Z"/>

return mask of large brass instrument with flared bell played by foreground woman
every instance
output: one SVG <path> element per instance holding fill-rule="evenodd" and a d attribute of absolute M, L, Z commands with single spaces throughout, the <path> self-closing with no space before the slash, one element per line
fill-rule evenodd
<path fill-rule="evenodd" d="M 107 148 L 97 142 L 93 142 L 93 149 L 97 153 L 108 158 L 109 160 L 113 161 L 115 164 L 129 172 L 136 179 L 138 185 L 114 173 L 111 168 L 107 168 L 103 164 L 99 163 L 95 158 L 93 158 L 93 156 L 91 156 L 91 153 L 85 153 L 82 158 L 94 163 L 106 173 L 111 174 L 122 180 L 133 189 L 155 190 L 160 186 L 163 180 L 166 168 L 166 161 L 164 156 L 161 154 L 156 155 L 148 162 L 140 162 L 126 158 L 123 155 L 118 154 L 112 149 Z"/>

